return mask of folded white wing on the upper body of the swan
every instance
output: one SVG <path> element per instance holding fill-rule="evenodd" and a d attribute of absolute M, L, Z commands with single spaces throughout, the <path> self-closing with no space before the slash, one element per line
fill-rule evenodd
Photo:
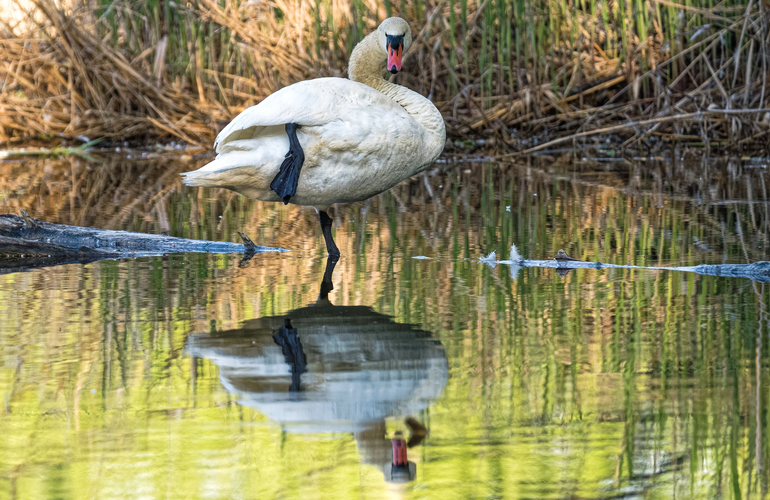
<path fill-rule="evenodd" d="M 344 116 L 355 116 L 362 108 L 377 106 L 382 111 L 401 107 L 389 97 L 362 83 L 345 78 L 306 80 L 269 95 L 256 106 L 245 109 L 217 136 L 214 149 L 225 144 L 258 137 L 265 127 L 296 123 L 321 126 Z"/>

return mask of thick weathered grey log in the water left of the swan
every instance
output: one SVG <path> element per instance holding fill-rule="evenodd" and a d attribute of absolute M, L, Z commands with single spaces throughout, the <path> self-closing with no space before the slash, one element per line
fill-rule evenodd
<path fill-rule="evenodd" d="M 109 231 L 52 224 L 22 215 L 0 215 L 0 273 L 104 259 L 145 257 L 168 253 L 242 253 L 244 262 L 256 253 L 286 252 L 284 248 L 244 243 L 188 240 L 173 236 Z"/>

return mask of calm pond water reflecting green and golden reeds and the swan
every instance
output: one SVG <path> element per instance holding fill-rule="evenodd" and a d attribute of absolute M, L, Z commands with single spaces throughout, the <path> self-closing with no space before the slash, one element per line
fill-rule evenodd
<path fill-rule="evenodd" d="M 478 262 L 770 260 L 766 164 L 438 165 L 331 274 L 313 210 L 133 156 L 0 163 L 0 212 L 291 252 L 0 276 L 0 498 L 767 496 L 770 286 Z"/>

